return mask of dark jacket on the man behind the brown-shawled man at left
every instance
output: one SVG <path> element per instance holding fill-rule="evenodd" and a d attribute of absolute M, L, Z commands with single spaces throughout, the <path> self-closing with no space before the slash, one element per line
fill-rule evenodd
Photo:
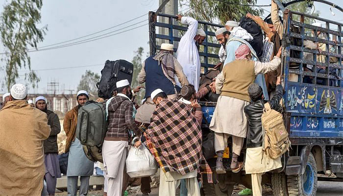
<path fill-rule="evenodd" d="M 57 114 L 50 110 L 46 111 L 48 115 L 48 125 L 50 125 L 51 132 L 49 138 L 44 140 L 44 153 L 58 153 L 57 134 L 61 132 L 61 125 Z"/>

